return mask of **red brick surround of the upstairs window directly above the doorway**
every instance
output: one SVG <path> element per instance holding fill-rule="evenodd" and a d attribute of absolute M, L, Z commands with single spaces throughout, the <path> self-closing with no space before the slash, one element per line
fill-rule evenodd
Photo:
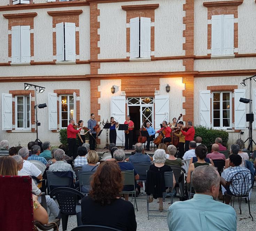
<path fill-rule="evenodd" d="M 130 19 L 145 17 L 151 19 L 150 31 L 150 57 L 155 51 L 155 9 L 159 4 L 122 6 L 126 11 L 126 57 L 130 57 Z"/>

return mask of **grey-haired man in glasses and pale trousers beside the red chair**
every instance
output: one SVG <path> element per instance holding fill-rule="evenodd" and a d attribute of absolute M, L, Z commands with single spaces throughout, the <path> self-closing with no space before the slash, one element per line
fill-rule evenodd
<path fill-rule="evenodd" d="M 33 149 L 32 149 L 32 153 L 33 153 Z M 22 157 L 20 155 L 16 155 L 16 156 L 13 156 L 13 158 L 16 160 L 16 163 L 17 163 L 18 176 L 26 176 L 27 175 L 26 173 L 21 173 L 20 172 L 22 170 L 22 168 L 23 168 L 23 162 L 24 162 Z M 41 190 L 36 186 L 34 181 L 32 181 L 32 193 L 34 195 L 38 196 L 37 200 L 38 200 L 39 203 L 41 203 Z M 45 199 L 46 199 L 47 207 L 53 213 L 54 217 L 57 217 L 59 215 L 59 212 L 60 212 L 59 207 L 57 206 L 55 201 L 50 196 L 48 196 L 48 195 L 45 196 Z"/>

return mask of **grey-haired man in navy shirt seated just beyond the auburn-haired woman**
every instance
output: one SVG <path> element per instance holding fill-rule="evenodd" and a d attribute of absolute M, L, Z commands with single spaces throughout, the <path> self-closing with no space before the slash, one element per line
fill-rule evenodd
<path fill-rule="evenodd" d="M 116 150 L 114 152 L 114 158 L 117 161 L 121 171 L 134 170 L 134 179 L 135 181 L 139 180 L 140 176 L 135 170 L 133 164 L 130 162 L 124 162 L 124 159 L 125 159 L 124 150 L 121 150 L 121 149 Z M 133 189 L 134 188 L 132 185 L 131 186 L 128 185 L 128 186 L 125 186 L 122 191 L 132 191 Z M 124 197 L 125 197 L 125 200 L 128 200 L 129 195 L 125 194 Z"/>

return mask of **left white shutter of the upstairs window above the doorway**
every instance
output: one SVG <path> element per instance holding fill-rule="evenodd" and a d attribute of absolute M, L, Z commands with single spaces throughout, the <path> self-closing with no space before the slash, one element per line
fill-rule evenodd
<path fill-rule="evenodd" d="M 130 58 L 139 58 L 140 47 L 139 17 L 130 19 Z"/>

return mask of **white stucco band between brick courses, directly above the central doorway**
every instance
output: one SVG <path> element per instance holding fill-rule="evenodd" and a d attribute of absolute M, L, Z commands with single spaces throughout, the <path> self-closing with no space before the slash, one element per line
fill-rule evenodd
<path fill-rule="evenodd" d="M 101 63 L 99 74 L 185 71 L 183 60 Z"/>

